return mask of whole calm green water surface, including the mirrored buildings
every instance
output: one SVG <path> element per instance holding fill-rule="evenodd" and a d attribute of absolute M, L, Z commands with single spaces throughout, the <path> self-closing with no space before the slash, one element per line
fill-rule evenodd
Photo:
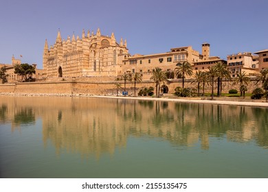
<path fill-rule="evenodd" d="M 0 178 L 268 178 L 268 108 L 0 96 Z"/>

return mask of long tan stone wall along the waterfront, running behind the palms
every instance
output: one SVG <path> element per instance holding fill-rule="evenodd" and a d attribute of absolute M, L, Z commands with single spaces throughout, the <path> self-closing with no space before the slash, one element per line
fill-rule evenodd
<path fill-rule="evenodd" d="M 124 91 L 123 81 L 98 81 L 98 78 L 94 78 L 92 81 L 83 80 L 60 80 L 58 82 L 24 82 L 16 84 L 0 84 L 0 93 L 63 93 L 63 94 L 82 94 L 82 95 L 116 95 L 115 83 L 122 84 L 120 93 Z M 136 84 L 136 94 L 140 88 L 153 86 L 155 83 L 150 80 L 146 80 L 142 83 Z M 177 86 L 182 86 L 181 80 L 172 80 L 166 84 L 168 86 L 168 93 L 174 93 Z M 186 80 L 184 87 L 197 88 L 196 84 L 191 84 L 190 80 Z M 233 82 L 223 82 L 223 93 L 228 93 L 232 88 L 239 91 L 239 85 L 234 85 Z M 260 83 L 250 82 L 247 86 L 247 93 L 252 93 L 254 88 L 261 87 Z M 126 82 L 126 91 L 129 95 L 134 95 L 134 83 Z M 202 92 L 202 89 L 200 90 Z M 211 93 L 211 86 L 205 85 L 205 93 Z M 214 93 L 216 93 L 216 84 L 214 85 Z"/>

